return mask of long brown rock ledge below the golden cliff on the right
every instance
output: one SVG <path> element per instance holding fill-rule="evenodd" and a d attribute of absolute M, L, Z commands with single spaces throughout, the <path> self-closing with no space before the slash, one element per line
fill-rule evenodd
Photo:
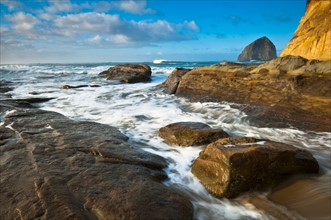
<path fill-rule="evenodd" d="M 286 56 L 260 65 L 221 63 L 180 78 L 176 95 L 245 104 L 255 126 L 330 131 L 331 61 Z"/>

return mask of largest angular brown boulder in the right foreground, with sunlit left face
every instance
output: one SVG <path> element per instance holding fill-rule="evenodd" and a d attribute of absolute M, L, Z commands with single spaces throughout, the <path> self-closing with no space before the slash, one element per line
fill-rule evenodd
<path fill-rule="evenodd" d="M 318 171 L 308 151 L 272 141 L 233 146 L 211 143 L 192 166 L 192 173 L 210 193 L 227 198 L 269 189 L 294 174 Z"/>

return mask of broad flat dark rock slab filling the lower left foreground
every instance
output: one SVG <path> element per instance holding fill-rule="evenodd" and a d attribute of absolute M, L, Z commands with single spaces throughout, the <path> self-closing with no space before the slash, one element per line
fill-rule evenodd
<path fill-rule="evenodd" d="M 0 116 L 0 219 L 192 219 L 165 160 L 116 128 L 1 102 Z"/>

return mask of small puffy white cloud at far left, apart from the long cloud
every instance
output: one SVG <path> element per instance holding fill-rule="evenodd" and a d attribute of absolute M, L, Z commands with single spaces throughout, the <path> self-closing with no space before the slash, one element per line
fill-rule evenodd
<path fill-rule="evenodd" d="M 14 15 L 7 15 L 6 18 L 13 24 L 13 29 L 16 31 L 29 31 L 40 21 L 31 14 L 18 12 Z"/>

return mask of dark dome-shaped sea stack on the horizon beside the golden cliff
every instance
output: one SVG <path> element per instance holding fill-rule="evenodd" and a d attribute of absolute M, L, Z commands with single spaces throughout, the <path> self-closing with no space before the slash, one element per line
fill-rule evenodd
<path fill-rule="evenodd" d="M 276 58 L 276 47 L 267 37 L 261 37 L 245 47 L 238 61 L 268 61 Z"/>

